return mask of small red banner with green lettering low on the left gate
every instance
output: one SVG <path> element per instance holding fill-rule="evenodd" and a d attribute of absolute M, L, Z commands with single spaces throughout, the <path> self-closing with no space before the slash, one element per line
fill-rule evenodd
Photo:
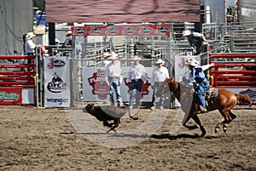
<path fill-rule="evenodd" d="M 22 105 L 22 88 L 19 87 L 1 87 L 0 105 Z"/>

